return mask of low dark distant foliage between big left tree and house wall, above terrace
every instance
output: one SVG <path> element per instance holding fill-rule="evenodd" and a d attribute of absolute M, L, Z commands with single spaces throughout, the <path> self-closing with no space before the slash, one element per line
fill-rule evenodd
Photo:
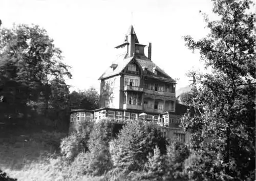
<path fill-rule="evenodd" d="M 73 91 L 70 94 L 70 106 L 73 109 L 97 109 L 99 108 L 99 94 L 93 87 L 79 92 Z"/>

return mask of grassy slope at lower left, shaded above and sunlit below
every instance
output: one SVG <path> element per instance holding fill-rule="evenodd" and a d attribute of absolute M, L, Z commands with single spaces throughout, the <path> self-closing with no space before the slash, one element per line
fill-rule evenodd
<path fill-rule="evenodd" d="M 54 131 L 0 130 L 0 169 L 18 180 L 100 180 L 79 175 L 59 154 L 66 133 Z"/>

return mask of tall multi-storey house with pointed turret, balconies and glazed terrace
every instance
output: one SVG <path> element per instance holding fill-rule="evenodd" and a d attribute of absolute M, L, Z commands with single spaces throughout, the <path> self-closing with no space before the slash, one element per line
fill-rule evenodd
<path fill-rule="evenodd" d="M 152 44 L 141 44 L 131 26 L 124 41 L 115 48 L 123 49 L 124 53 L 99 78 L 99 109 L 73 110 L 71 121 L 84 117 L 95 121 L 154 122 L 162 126 L 166 137 L 189 142 L 189 134 L 179 127 L 186 106 L 176 103 L 176 81 L 151 60 Z"/>

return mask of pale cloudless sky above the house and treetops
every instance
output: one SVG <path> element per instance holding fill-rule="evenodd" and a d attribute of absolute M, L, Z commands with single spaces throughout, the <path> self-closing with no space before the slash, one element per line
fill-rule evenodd
<path fill-rule="evenodd" d="M 0 19 L 5 28 L 35 24 L 47 30 L 72 66 L 71 91 L 99 91 L 98 78 L 120 54 L 114 47 L 133 25 L 140 43 L 152 42 L 152 60 L 179 79 L 179 89 L 190 83 L 189 70 L 203 68 L 183 36 L 203 38 L 208 30 L 199 11 L 214 17 L 211 9 L 209 0 L 1 0 Z"/>

